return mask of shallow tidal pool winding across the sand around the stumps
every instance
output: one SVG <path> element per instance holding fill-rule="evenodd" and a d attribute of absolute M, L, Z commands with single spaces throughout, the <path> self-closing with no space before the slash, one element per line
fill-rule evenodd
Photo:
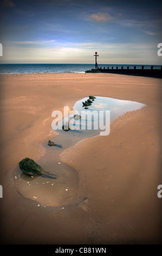
<path fill-rule="evenodd" d="M 99 135 L 103 130 L 94 129 L 96 123 L 98 123 L 99 126 L 99 115 L 102 115 L 104 120 L 108 113 L 106 111 L 110 111 L 110 121 L 113 121 L 115 118 L 119 117 L 119 115 L 145 106 L 135 101 L 118 100 L 109 97 L 95 97 L 96 99 L 94 99 L 91 106 L 88 106 L 88 109 L 83 107 L 82 102 L 85 102 L 89 97 L 77 101 L 73 107 L 74 111 L 80 115 L 83 115 L 83 113 L 87 111 L 91 113 L 96 111 L 93 119 L 91 116 L 86 116 L 85 120 L 81 118 L 75 121 L 73 123 L 75 124 L 73 125 L 75 130 L 56 130 L 56 132 L 59 132 L 59 135 L 51 139 L 51 141 L 62 145 L 62 147 L 49 147 L 48 141 L 43 144 L 43 147 L 46 148 L 46 154 L 41 160 L 37 161 L 37 163 L 48 170 L 48 172 L 58 175 L 59 178 L 50 179 L 44 176 L 34 176 L 34 178 L 31 178 L 23 174 L 20 168 L 17 168 L 14 174 L 14 182 L 17 190 L 23 194 L 24 197 L 35 200 L 37 206 L 63 206 L 74 202 L 74 199 L 79 196 L 79 175 L 75 168 L 62 162 L 59 155 L 63 150 L 72 147 L 82 139 Z M 66 117 L 64 119 L 65 123 L 67 123 L 67 120 L 72 123 L 72 120 L 74 121 L 73 117 L 74 115 Z M 82 122 L 84 125 L 81 127 Z M 61 123 L 62 127 L 62 120 L 59 123 Z M 93 129 L 88 130 L 89 124 L 92 125 Z M 72 126 L 72 124 L 70 125 Z M 82 198 L 80 198 L 80 200 L 81 199 Z"/>

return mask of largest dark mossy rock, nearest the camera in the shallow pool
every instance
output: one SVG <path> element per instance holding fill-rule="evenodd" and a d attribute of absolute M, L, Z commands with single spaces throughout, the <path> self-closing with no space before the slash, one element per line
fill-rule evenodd
<path fill-rule="evenodd" d="M 47 172 L 47 170 L 44 170 L 33 159 L 29 159 L 28 157 L 25 157 L 25 159 L 23 159 L 19 163 L 19 167 L 23 173 L 30 176 L 46 175 L 48 176 L 48 178 L 57 179 L 56 178 L 57 175 Z"/>

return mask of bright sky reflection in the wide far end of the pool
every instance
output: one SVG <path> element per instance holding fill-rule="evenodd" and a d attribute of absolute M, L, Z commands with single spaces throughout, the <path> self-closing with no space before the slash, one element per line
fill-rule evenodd
<path fill-rule="evenodd" d="M 68 134 L 69 132 L 73 133 L 73 136 L 74 132 L 81 132 L 82 138 L 92 137 L 99 134 L 102 130 L 100 125 L 101 120 L 107 125 L 106 114 L 108 111 L 110 113 L 109 121 L 111 122 L 120 115 L 128 111 L 135 111 L 143 106 L 145 105 L 139 102 L 118 100 L 110 97 L 95 96 L 93 99 L 85 97 L 77 101 L 73 107 L 74 111 L 77 113 L 76 117 L 80 118 L 74 118 L 75 115 L 71 114 L 66 117 L 66 119 L 61 120 L 59 125 L 57 125 L 57 127 L 59 126 L 62 129 L 57 130 L 56 126 L 53 127 L 53 129 L 59 133 L 68 131 Z"/>

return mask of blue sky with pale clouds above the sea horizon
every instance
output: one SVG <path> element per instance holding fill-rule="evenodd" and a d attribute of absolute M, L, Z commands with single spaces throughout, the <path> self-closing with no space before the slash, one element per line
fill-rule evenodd
<path fill-rule="evenodd" d="M 162 1 L 1 0 L 0 63 L 162 65 Z M 161 16 L 161 17 L 160 17 Z"/>

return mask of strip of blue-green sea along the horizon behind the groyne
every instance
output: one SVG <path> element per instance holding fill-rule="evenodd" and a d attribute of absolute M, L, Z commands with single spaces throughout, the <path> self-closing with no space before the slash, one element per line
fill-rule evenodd
<path fill-rule="evenodd" d="M 142 65 L 129 64 L 98 64 L 99 68 L 116 69 L 141 69 Z M 151 65 L 143 65 L 144 69 L 151 69 Z M 154 65 L 153 69 L 160 69 L 160 65 Z M 95 69 L 95 64 L 0 64 L 0 74 L 37 74 L 37 73 L 85 73 L 86 70 Z"/>

